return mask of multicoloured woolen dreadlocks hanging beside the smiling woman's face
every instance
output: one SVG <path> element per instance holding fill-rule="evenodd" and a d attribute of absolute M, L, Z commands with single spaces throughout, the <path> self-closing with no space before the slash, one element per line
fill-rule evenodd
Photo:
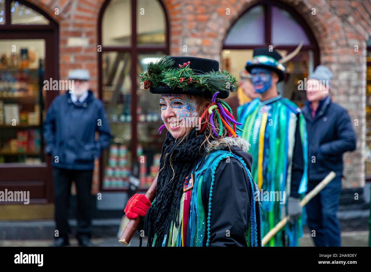
<path fill-rule="evenodd" d="M 234 120 L 233 115 L 232 115 L 232 109 L 229 107 L 227 103 L 225 103 L 222 100 L 216 101 L 216 96 L 218 95 L 219 92 L 216 92 L 213 95 L 213 98 L 211 100 L 211 103 L 209 106 L 204 110 L 204 113 L 201 115 L 201 118 L 198 120 L 198 127 L 201 127 L 201 123 L 204 121 L 203 126 L 201 130 L 198 133 L 201 133 L 202 131 L 205 130 L 206 125 L 207 125 L 207 120 L 209 120 L 210 125 L 211 125 L 211 130 L 213 131 L 213 134 L 216 138 L 220 138 L 221 134 L 223 133 L 223 125 L 226 128 L 228 132 L 228 137 L 238 137 L 236 134 L 236 129 L 239 131 L 242 131 L 239 127 L 236 127 L 236 125 L 242 125 L 241 123 L 237 122 Z M 219 108 L 219 109 L 218 109 Z M 216 114 L 218 124 L 219 124 L 219 134 L 216 133 L 216 129 L 214 126 L 214 114 Z M 233 128 L 232 128 L 233 126 Z M 159 129 L 158 132 L 161 133 L 161 130 L 165 127 L 165 124 L 162 125 Z"/>

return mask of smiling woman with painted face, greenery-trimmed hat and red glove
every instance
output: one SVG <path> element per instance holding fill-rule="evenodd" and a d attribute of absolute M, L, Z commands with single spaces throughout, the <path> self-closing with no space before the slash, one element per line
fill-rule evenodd
<path fill-rule="evenodd" d="M 125 208 L 129 219 L 144 217 L 147 246 L 261 246 L 249 144 L 221 100 L 235 78 L 216 60 L 170 56 L 141 78 L 161 94 L 159 131 L 167 130 L 154 201 L 137 194 Z"/>

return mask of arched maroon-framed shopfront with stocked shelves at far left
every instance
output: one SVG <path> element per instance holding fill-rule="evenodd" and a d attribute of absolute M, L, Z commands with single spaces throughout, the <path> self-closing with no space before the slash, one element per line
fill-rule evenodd
<path fill-rule="evenodd" d="M 0 0 L 0 191 L 30 191 L 31 203 L 53 200 L 42 124 L 58 90 L 43 87 L 58 63 L 58 24 L 27 1 Z"/>

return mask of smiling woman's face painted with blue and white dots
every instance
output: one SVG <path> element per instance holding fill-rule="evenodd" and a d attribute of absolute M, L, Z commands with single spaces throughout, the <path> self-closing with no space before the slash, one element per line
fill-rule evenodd
<path fill-rule="evenodd" d="M 185 94 L 162 94 L 160 107 L 162 121 L 174 138 L 183 137 L 198 115 L 196 100 Z"/>

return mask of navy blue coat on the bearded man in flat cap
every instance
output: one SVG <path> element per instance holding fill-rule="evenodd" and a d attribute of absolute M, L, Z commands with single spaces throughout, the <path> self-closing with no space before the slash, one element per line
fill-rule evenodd
<path fill-rule="evenodd" d="M 91 91 L 78 105 L 72 102 L 69 92 L 56 97 L 47 110 L 43 135 L 52 166 L 75 170 L 92 170 L 94 159 L 111 139 L 103 104 Z"/>

